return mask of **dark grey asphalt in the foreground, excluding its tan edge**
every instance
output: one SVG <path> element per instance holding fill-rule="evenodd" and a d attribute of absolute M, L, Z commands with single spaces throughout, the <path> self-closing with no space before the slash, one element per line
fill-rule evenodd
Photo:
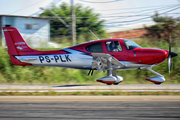
<path fill-rule="evenodd" d="M 0 102 L 0 120 L 179 120 L 180 102 Z"/>

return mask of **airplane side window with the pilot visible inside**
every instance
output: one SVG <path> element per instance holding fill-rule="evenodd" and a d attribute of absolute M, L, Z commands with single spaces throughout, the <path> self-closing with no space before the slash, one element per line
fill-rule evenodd
<path fill-rule="evenodd" d="M 108 52 L 119 52 L 122 51 L 122 47 L 119 41 L 107 41 L 106 48 Z"/>

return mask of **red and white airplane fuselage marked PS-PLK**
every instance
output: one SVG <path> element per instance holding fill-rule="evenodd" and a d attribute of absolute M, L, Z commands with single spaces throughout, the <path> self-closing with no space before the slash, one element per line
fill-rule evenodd
<path fill-rule="evenodd" d="M 114 41 L 119 42 L 120 51 L 108 51 L 106 43 Z M 75 69 L 91 69 L 93 62 L 92 53 L 110 54 L 118 61 L 127 65 L 127 67 L 119 69 L 132 69 L 156 65 L 163 62 L 168 57 L 167 50 L 141 48 L 140 46 L 134 46 L 135 48 L 128 50 L 124 41 L 128 40 L 96 40 L 59 50 L 60 54 L 58 54 L 58 51 L 52 51 L 52 53 L 49 52 L 49 54 L 44 52 L 46 53 L 45 55 L 38 53 L 38 55 L 17 55 L 14 57 L 23 63 L 29 63 L 34 66 L 56 66 Z M 93 48 L 92 50 L 88 49 L 88 47 L 92 45 L 95 45 L 95 51 L 93 51 Z M 53 54 L 53 52 L 55 52 L 55 54 Z"/>

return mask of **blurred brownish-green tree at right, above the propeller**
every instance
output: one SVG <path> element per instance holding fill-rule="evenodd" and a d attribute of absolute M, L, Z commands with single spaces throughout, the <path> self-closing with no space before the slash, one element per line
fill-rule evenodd
<path fill-rule="evenodd" d="M 180 42 L 180 18 L 163 17 L 159 16 L 158 13 L 152 16 L 152 18 L 157 24 L 151 27 L 145 27 L 148 31 L 146 34 L 147 37 L 153 40 L 164 39 L 168 42 L 169 35 L 171 35 L 173 44 Z"/>

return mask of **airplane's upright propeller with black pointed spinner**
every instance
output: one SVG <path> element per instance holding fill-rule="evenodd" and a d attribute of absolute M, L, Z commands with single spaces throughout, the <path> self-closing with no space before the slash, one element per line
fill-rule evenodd
<path fill-rule="evenodd" d="M 177 56 L 178 54 L 175 52 L 171 52 L 171 35 L 169 36 L 169 54 L 168 54 L 168 71 L 170 74 L 171 71 L 171 58 Z"/>

